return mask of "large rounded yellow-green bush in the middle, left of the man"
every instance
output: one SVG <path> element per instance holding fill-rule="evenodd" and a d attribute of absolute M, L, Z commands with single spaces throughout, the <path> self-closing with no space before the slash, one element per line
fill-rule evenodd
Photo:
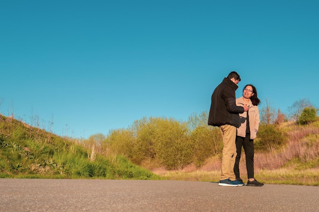
<path fill-rule="evenodd" d="M 135 122 L 130 129 L 134 139 L 126 135 L 123 140 L 131 143 L 132 162 L 139 165 L 148 162 L 167 169 L 182 169 L 192 162 L 194 146 L 188 137 L 187 124 L 173 118 L 150 117 Z"/>

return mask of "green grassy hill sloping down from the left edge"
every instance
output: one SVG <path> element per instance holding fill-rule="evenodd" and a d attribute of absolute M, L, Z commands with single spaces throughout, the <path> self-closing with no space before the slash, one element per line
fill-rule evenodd
<path fill-rule="evenodd" d="M 0 115 L 1 178 L 158 179 L 121 156 L 92 155 L 74 140 Z"/>

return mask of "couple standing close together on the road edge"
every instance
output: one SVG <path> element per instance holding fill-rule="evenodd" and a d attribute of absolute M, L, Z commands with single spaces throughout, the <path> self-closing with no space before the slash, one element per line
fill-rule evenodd
<path fill-rule="evenodd" d="M 230 72 L 214 90 L 208 116 L 208 125 L 218 126 L 223 137 L 222 173 L 220 186 L 244 186 L 240 177 L 239 162 L 242 147 L 246 154 L 247 186 L 263 186 L 254 178 L 253 139 L 259 127 L 260 100 L 256 88 L 248 84 L 243 96 L 236 99 L 235 90 L 240 75 Z"/>

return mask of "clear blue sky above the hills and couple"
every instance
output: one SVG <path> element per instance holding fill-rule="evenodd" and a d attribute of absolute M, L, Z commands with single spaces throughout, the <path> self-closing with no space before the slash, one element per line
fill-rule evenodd
<path fill-rule="evenodd" d="M 319 106 L 318 1 L 1 1 L 0 112 L 87 138 L 187 120 L 237 71 L 282 112 Z M 32 121 L 33 117 L 33 121 Z"/>

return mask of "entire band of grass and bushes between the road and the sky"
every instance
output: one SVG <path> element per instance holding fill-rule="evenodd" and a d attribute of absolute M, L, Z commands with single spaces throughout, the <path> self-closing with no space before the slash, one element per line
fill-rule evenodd
<path fill-rule="evenodd" d="M 255 139 L 255 177 L 266 184 L 319 186 L 319 120 L 308 100 L 290 114 L 266 101 Z M 143 117 L 88 139 L 61 137 L 0 116 L 0 177 L 219 181 L 222 138 L 207 111 L 185 122 Z M 247 180 L 245 153 L 240 163 Z"/>

